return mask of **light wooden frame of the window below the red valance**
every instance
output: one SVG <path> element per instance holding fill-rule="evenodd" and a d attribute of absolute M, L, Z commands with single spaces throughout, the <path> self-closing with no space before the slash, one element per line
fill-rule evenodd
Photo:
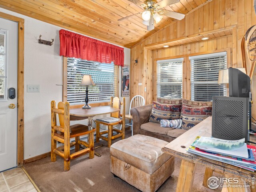
<path fill-rule="evenodd" d="M 116 96 L 119 97 L 119 66 L 116 66 L 116 74 L 117 74 L 117 80 L 116 80 Z M 63 85 L 62 85 L 62 101 L 67 102 L 67 92 L 68 92 L 68 58 L 63 56 Z M 90 102 L 90 99 L 89 99 Z M 97 102 L 97 103 L 91 103 L 90 106 L 96 107 L 96 106 L 108 106 L 110 105 L 109 102 Z M 76 105 L 70 105 L 70 108 L 80 108 L 84 106 L 84 104 L 76 104 Z"/>

